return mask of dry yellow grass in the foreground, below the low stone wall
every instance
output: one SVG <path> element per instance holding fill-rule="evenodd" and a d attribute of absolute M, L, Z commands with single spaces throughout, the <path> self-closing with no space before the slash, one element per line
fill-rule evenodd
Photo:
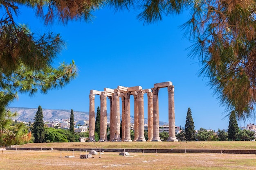
<path fill-rule="evenodd" d="M 215 154 L 215 153 L 130 153 L 130 156 L 119 156 L 119 153 L 93 155 L 94 158 L 80 159 L 85 152 L 58 150 L 4 150 L 0 156 L 1 170 L 85 170 L 85 169 L 255 169 L 254 154 Z M 60 157 L 62 156 L 62 157 Z"/>

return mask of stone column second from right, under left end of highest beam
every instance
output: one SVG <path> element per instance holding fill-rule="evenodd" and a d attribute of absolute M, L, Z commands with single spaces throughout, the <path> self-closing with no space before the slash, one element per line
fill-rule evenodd
<path fill-rule="evenodd" d="M 153 91 L 153 139 L 154 142 L 160 142 L 159 137 L 159 110 L 158 110 L 158 92 L 159 88 L 151 88 Z"/>

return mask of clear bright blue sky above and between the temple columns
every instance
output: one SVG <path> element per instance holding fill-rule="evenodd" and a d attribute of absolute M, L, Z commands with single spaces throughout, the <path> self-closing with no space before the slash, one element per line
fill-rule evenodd
<path fill-rule="evenodd" d="M 19 94 L 11 107 L 44 109 L 73 109 L 89 111 L 91 89 L 103 91 L 105 87 L 115 89 L 142 86 L 152 88 L 154 83 L 173 82 L 175 86 L 175 124 L 184 126 L 186 112 L 191 108 L 195 129 L 227 129 L 225 108 L 220 107 L 213 90 L 207 86 L 207 78 L 198 77 L 200 65 L 197 59 L 188 57 L 192 44 L 183 38 L 179 26 L 188 20 L 188 13 L 164 17 L 162 22 L 143 25 L 136 19 L 137 12 L 100 9 L 89 23 L 70 22 L 66 26 L 54 24 L 44 26 L 34 12 L 21 9 L 18 21 L 29 25 L 34 33 L 52 31 L 60 33 L 67 43 L 55 64 L 72 59 L 78 68 L 78 77 L 63 89 L 29 97 Z M 133 115 L 131 97 L 131 115 Z M 99 96 L 95 98 L 95 109 Z M 109 113 L 108 102 L 108 113 Z M 147 96 L 144 96 L 147 117 Z M 223 119 L 224 118 L 224 119 Z M 159 91 L 159 120 L 168 122 L 167 88 Z M 249 121 L 254 123 L 254 120 Z M 248 122 L 248 123 L 249 123 Z M 247 122 L 246 122 L 247 123 Z M 238 126 L 245 126 L 238 122 Z"/>

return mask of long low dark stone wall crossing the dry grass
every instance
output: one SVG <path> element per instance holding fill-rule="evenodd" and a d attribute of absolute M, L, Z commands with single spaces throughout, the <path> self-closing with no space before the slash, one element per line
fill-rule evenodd
<path fill-rule="evenodd" d="M 110 148 L 19 148 L 6 147 L 6 150 L 66 150 L 66 151 L 90 151 L 97 152 L 129 152 L 129 153 L 235 153 L 235 154 L 256 154 L 256 150 L 234 150 L 234 149 L 110 149 Z"/>

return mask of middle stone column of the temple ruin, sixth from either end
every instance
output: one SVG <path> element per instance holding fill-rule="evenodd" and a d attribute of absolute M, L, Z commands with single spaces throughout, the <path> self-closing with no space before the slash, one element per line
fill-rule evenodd
<path fill-rule="evenodd" d="M 130 92 L 124 93 L 125 97 L 125 142 L 132 142 L 131 135 L 130 135 L 130 126 L 131 126 L 131 120 L 130 120 Z"/>

